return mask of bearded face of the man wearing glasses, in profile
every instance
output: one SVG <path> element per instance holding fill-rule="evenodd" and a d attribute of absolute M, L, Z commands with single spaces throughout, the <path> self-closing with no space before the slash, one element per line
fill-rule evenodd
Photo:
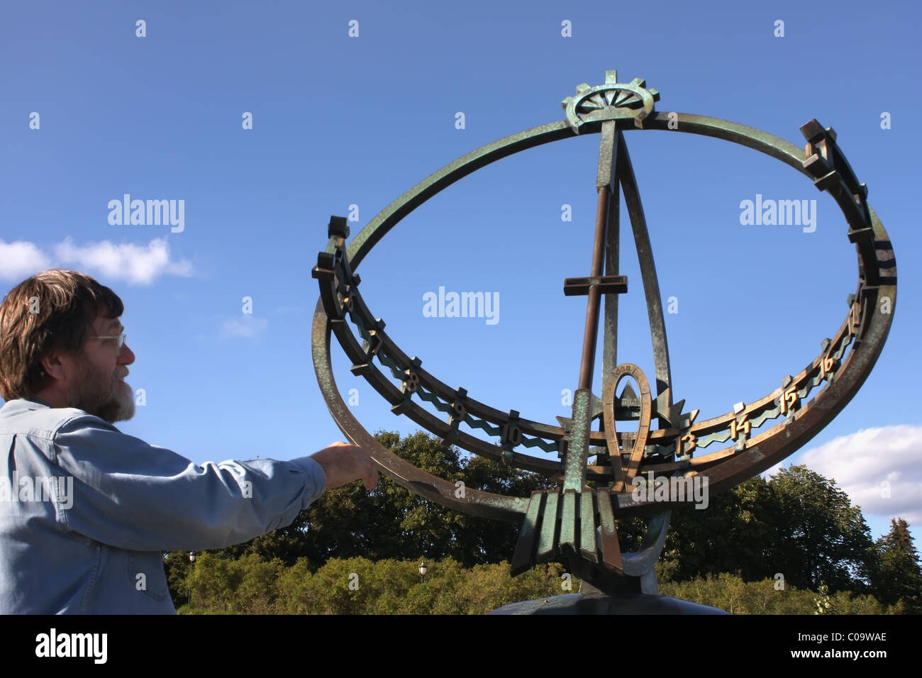
<path fill-rule="evenodd" d="M 115 337 L 124 332 L 118 318 L 96 317 L 89 328 L 90 337 Z M 135 393 L 124 382 L 135 354 L 119 339 L 87 339 L 83 351 L 73 357 L 74 373 L 68 389 L 67 404 L 100 419 L 126 422 L 135 416 Z"/>

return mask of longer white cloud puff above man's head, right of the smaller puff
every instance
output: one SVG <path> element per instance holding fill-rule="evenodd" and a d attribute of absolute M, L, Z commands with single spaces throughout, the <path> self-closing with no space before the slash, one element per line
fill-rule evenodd
<path fill-rule="evenodd" d="M 108 240 L 81 246 L 66 238 L 63 243 L 55 245 L 54 256 L 62 264 L 99 271 L 109 279 L 124 280 L 133 285 L 149 285 L 162 275 L 192 275 L 189 261 L 171 261 L 170 244 L 166 238 L 155 238 L 147 246 L 112 244 Z"/>

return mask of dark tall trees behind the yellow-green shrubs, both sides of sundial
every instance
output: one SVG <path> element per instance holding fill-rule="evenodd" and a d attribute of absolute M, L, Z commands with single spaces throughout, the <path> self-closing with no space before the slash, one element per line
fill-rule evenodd
<path fill-rule="evenodd" d="M 466 490 L 528 496 L 552 487 L 536 474 L 469 456 L 423 432 L 404 438 L 379 432 L 375 437 L 421 470 L 464 482 Z M 710 497 L 709 504 L 704 510 L 688 506 L 673 511 L 660 570 L 665 578 L 688 581 L 732 573 L 762 581 L 780 573 L 787 586 L 816 591 L 825 583 L 833 595 L 867 593 L 872 579 L 882 581 L 876 574 L 881 571 L 879 552 L 889 553 L 889 573 L 909 572 L 906 564 L 916 557 L 911 538 L 899 535 L 893 537 L 897 545 L 875 549 L 860 508 L 834 481 L 803 466 L 782 470 L 769 481 L 743 482 Z M 311 572 L 332 558 L 451 558 L 472 567 L 511 560 L 519 529 L 517 523 L 438 505 L 382 477 L 372 492 L 361 482 L 327 491 L 289 527 L 216 553 L 228 559 L 253 553 L 289 567 L 301 559 Z M 645 521 L 621 521 L 622 550 L 635 550 L 644 530 Z M 173 560 L 167 561 L 176 570 L 171 586 L 174 579 L 183 579 L 186 568 L 182 557 Z M 904 580 L 906 590 L 912 590 L 913 581 Z"/>

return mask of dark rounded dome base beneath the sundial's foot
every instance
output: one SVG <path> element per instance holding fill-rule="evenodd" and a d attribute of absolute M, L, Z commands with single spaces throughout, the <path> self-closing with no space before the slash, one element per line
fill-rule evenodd
<path fill-rule="evenodd" d="M 514 602 L 487 614 L 729 614 L 697 602 L 647 593 L 568 593 L 535 601 Z"/>

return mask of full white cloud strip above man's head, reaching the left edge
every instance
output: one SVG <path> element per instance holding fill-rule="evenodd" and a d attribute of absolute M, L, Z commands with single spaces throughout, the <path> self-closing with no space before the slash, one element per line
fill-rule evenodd
<path fill-rule="evenodd" d="M 155 238 L 147 245 L 113 244 L 108 240 L 78 245 L 65 238 L 51 249 L 49 254 L 34 243 L 6 244 L 0 240 L 0 280 L 19 282 L 53 267 L 104 276 L 103 284 L 121 280 L 131 285 L 149 285 L 163 275 L 192 275 L 191 262 L 171 258 L 166 238 Z"/>

